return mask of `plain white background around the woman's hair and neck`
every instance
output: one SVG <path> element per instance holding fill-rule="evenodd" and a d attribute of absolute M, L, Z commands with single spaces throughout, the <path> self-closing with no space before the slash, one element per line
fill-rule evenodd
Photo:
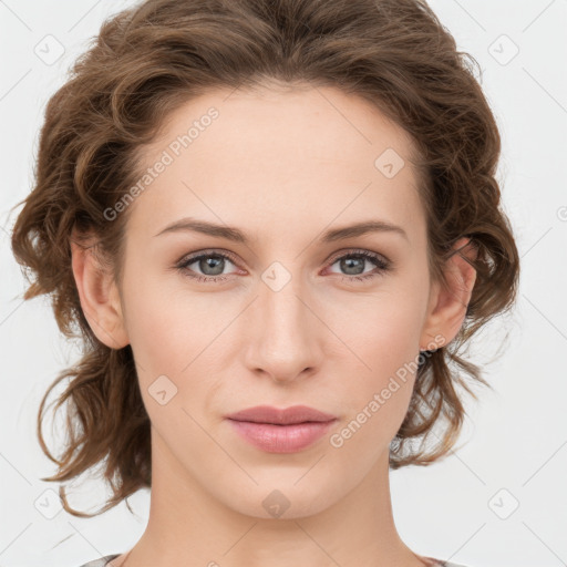
<path fill-rule="evenodd" d="M 137 517 L 124 504 L 93 519 L 64 512 L 47 519 L 35 508 L 45 489 L 58 489 L 39 480 L 54 468 L 35 437 L 38 404 L 76 352 L 60 338 L 48 298 L 22 302 L 24 280 L 9 248 L 16 213 L 8 213 L 32 187 L 44 105 L 101 22 L 131 4 L 0 1 L 2 567 L 76 567 L 123 553 L 147 518 L 147 491 L 131 498 Z M 513 316 L 477 342 L 475 357 L 494 392 L 476 390 L 480 403 L 467 399 L 470 420 L 455 453 L 391 473 L 394 516 L 402 538 L 422 555 L 470 567 L 559 567 L 567 565 L 567 2 L 435 0 L 431 7 L 483 70 L 503 137 L 498 179 L 523 271 Z M 65 49 L 52 65 L 34 53 L 48 34 Z M 507 64 L 513 44 L 503 34 L 519 49 Z M 102 484 L 85 481 L 70 498 L 94 511 L 105 495 Z M 498 517 L 495 511 L 506 515 L 515 501 L 518 508 Z"/>

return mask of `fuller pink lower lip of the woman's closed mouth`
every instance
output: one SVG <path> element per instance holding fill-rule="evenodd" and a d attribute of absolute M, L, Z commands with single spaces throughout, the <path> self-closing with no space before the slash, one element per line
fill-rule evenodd
<path fill-rule="evenodd" d="M 290 425 L 252 423 L 230 419 L 228 421 L 239 435 L 262 451 L 268 453 L 295 453 L 322 437 L 337 420 Z"/>

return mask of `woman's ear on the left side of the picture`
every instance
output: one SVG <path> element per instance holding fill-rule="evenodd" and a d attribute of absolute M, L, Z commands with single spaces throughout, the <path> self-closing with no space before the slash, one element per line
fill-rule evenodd
<path fill-rule="evenodd" d="M 130 340 L 117 287 L 112 274 L 96 259 L 95 241 L 79 243 L 73 230 L 70 239 L 72 268 L 84 316 L 101 342 L 112 349 L 122 349 Z"/>

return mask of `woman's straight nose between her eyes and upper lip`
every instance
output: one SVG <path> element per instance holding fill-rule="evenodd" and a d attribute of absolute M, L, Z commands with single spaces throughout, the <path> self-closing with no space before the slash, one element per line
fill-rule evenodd
<path fill-rule="evenodd" d="M 317 317 L 316 298 L 299 280 L 291 277 L 281 289 L 269 280 L 260 281 L 258 297 L 243 321 L 249 329 L 245 333 L 247 368 L 279 383 L 317 371 L 323 357 L 324 333 L 329 332 Z"/>

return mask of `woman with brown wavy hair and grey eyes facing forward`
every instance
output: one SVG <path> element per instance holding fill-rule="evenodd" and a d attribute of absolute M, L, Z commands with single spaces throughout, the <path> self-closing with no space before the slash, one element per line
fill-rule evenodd
<path fill-rule="evenodd" d="M 456 565 L 403 543 L 389 470 L 443 457 L 458 388 L 488 385 L 460 349 L 516 296 L 498 155 L 420 0 L 147 0 L 103 24 L 12 236 L 25 299 L 84 341 L 40 406 L 44 480 L 102 463 L 99 513 L 152 488 L 142 538 L 90 567 Z"/>

